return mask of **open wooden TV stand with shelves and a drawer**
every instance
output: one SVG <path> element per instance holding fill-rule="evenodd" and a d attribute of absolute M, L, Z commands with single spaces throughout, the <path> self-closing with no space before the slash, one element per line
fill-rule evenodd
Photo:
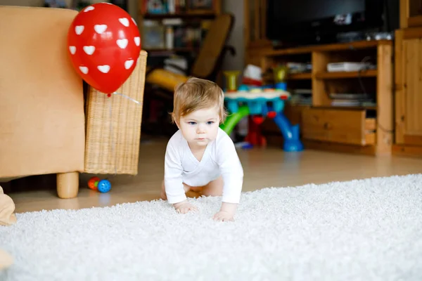
<path fill-rule="evenodd" d="M 312 89 L 312 104 L 286 105 L 286 115 L 300 124 L 305 148 L 390 154 L 392 150 L 392 41 L 357 41 L 270 50 L 262 54 L 264 83 L 271 71 L 285 63 L 311 63 L 312 72 L 288 74 L 288 89 Z M 328 63 L 368 60 L 376 69 L 360 72 L 327 72 Z M 376 105 L 333 106 L 330 93 L 366 93 Z M 278 143 L 281 134 L 264 122 L 264 135 Z M 277 136 L 278 134 L 278 136 Z"/>

